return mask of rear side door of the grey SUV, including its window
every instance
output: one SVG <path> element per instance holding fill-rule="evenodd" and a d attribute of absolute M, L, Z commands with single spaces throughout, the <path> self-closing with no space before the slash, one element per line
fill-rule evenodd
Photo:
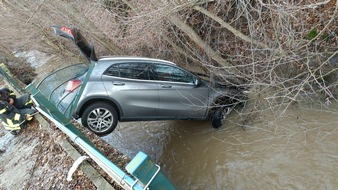
<path fill-rule="evenodd" d="M 110 66 L 102 80 L 108 96 L 122 109 L 122 119 L 147 119 L 158 115 L 158 84 L 149 80 L 148 63 Z"/>

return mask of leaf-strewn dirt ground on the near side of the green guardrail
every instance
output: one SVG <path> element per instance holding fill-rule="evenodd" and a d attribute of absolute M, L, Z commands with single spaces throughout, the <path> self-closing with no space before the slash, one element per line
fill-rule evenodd
<path fill-rule="evenodd" d="M 17 136 L 0 127 L 0 189 L 96 189 L 81 170 L 66 180 L 73 160 L 35 120 Z"/>

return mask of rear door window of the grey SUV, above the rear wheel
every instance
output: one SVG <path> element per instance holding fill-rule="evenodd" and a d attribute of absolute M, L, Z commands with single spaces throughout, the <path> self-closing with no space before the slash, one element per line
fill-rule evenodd
<path fill-rule="evenodd" d="M 149 80 L 148 63 L 120 63 L 110 66 L 104 74 L 121 78 Z"/>

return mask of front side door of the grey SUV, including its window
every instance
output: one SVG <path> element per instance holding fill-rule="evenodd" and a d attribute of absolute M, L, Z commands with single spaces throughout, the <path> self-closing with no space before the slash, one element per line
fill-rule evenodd
<path fill-rule="evenodd" d="M 208 88 L 196 85 L 196 76 L 175 66 L 153 64 L 152 72 L 159 83 L 159 113 L 163 118 L 204 118 Z"/>

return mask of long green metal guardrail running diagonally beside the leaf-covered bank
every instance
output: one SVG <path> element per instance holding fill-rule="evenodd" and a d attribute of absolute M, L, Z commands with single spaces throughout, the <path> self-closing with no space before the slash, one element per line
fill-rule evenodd
<path fill-rule="evenodd" d="M 16 90 L 26 93 L 4 64 L 0 64 L 0 74 L 2 74 Z M 33 84 L 28 85 L 26 90 L 31 93 L 36 109 L 55 123 L 61 131 L 68 135 L 75 144 L 85 151 L 88 156 L 122 188 L 127 190 L 175 189 L 160 171 L 160 167 L 154 164 L 143 152 L 139 152 L 126 166 L 126 170 L 133 176 L 128 175 L 97 150 L 95 145 L 71 123 L 70 119 L 65 117 Z"/>

